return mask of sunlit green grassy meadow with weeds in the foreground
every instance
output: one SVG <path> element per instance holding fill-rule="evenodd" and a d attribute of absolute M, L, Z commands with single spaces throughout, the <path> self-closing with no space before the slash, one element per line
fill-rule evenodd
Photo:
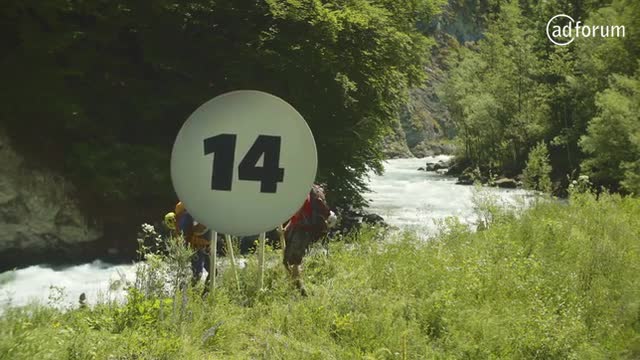
<path fill-rule="evenodd" d="M 383 245 L 374 231 L 331 243 L 306 259 L 307 298 L 270 251 L 265 291 L 254 257 L 240 292 L 227 270 L 215 298 L 195 289 L 183 313 L 135 291 L 124 306 L 9 309 L 0 358 L 640 357 L 640 200 L 576 195 L 491 221 L 477 233 L 449 221 L 426 243 Z"/>

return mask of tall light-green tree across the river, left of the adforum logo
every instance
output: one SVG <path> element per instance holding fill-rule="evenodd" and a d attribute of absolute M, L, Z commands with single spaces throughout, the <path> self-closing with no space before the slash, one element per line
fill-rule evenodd
<path fill-rule="evenodd" d="M 463 156 L 483 171 L 521 170 L 528 148 L 544 134 L 545 88 L 528 22 L 515 2 L 504 4 L 475 49 L 451 58 L 444 98 L 463 140 Z M 498 171 L 497 171 L 498 170 Z"/>

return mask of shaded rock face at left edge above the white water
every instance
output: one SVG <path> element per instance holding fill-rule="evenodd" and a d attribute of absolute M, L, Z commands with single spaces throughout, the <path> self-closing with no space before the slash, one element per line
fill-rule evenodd
<path fill-rule="evenodd" d="M 83 215 L 73 186 L 30 168 L 0 129 L 0 271 L 90 256 L 102 234 Z"/>

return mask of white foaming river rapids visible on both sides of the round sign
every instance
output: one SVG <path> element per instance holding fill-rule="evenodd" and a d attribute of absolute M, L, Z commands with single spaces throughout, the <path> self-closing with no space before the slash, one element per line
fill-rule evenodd
<path fill-rule="evenodd" d="M 416 231 L 423 237 L 437 231 L 436 222 L 456 216 L 471 226 L 476 221 L 472 186 L 456 185 L 455 178 L 418 171 L 427 161 L 446 160 L 446 156 L 425 159 L 395 159 L 385 162 L 385 173 L 372 175 L 370 211 L 381 215 L 390 225 Z M 530 194 L 523 190 L 486 188 L 505 205 L 526 202 Z M 474 195 L 475 194 L 475 195 Z M 89 303 L 122 300 L 121 286 L 135 278 L 134 265 L 111 265 L 100 261 L 65 268 L 45 265 L 0 274 L 0 312 L 6 306 L 29 302 L 77 306 L 81 293 Z"/>

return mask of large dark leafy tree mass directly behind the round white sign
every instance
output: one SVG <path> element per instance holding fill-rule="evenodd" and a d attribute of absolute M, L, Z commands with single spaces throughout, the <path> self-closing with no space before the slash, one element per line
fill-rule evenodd
<path fill-rule="evenodd" d="M 13 105 L 0 118 L 90 207 L 139 223 L 138 208 L 173 201 L 170 146 L 188 115 L 227 91 L 268 91 L 308 121 L 332 201 L 362 205 L 381 140 L 425 76 L 431 42 L 415 25 L 443 3 L 10 0 L 0 96 Z"/>

